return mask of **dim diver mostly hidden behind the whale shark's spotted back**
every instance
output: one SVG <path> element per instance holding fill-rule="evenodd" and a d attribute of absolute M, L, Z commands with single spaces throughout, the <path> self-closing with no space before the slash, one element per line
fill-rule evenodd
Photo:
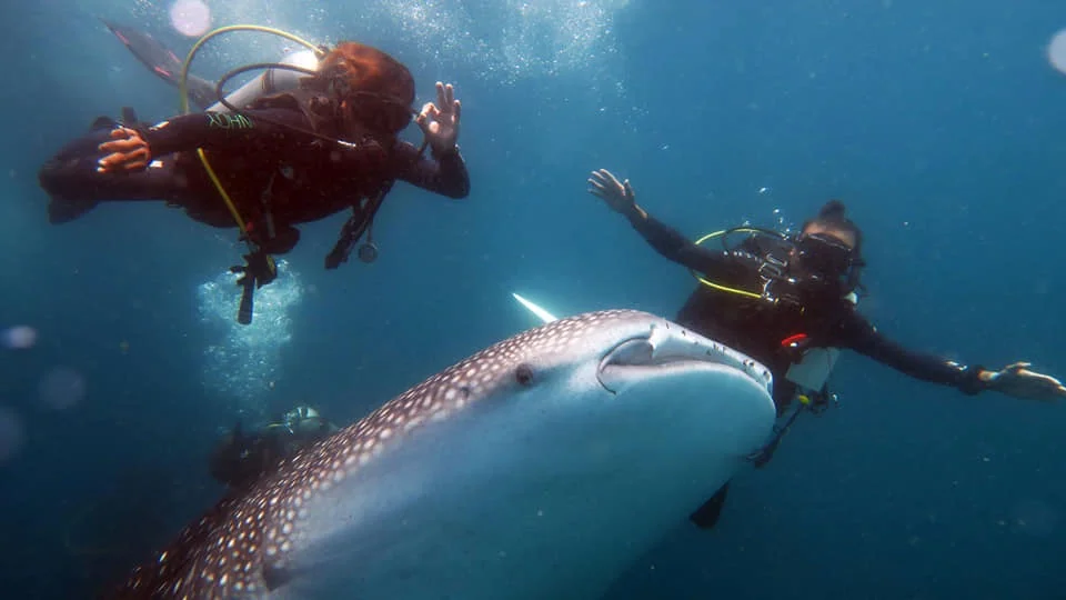
<path fill-rule="evenodd" d="M 251 433 L 238 423 L 212 451 L 211 477 L 231 491 L 247 488 L 276 469 L 283 459 L 338 430 L 306 406 L 296 407 Z"/>

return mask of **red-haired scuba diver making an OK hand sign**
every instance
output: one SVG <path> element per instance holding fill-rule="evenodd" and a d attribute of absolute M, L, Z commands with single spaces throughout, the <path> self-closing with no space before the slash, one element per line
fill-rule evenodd
<path fill-rule="evenodd" d="M 376 48 L 345 41 L 328 50 L 269 28 L 234 26 L 201 38 L 181 63 L 150 36 L 107 24 L 152 72 L 179 87 L 183 113 L 155 124 L 138 122 L 130 109 L 120 121 L 97 119 L 39 171 L 49 221 L 69 222 L 103 201 L 163 200 L 199 222 L 238 227 L 249 249 L 247 264 L 231 269 L 243 273 L 242 323 L 251 322 L 252 291 L 276 277 L 272 254 L 299 241 L 294 226 L 352 210 L 325 258 L 326 269 L 335 269 L 364 233 L 358 256 L 376 258 L 371 227 L 395 181 L 453 199 L 470 193 L 454 89 L 438 82 L 436 102 L 415 112 L 411 72 Z M 189 98 L 201 106 L 209 98 L 208 83 L 190 79 L 189 63 L 204 41 L 234 29 L 280 34 L 310 50 L 231 71 L 215 86 L 214 104 L 188 112 Z M 223 94 L 233 77 L 262 69 Z M 399 137 L 412 119 L 424 136 L 421 148 Z M 423 156 L 426 146 L 432 157 Z"/>

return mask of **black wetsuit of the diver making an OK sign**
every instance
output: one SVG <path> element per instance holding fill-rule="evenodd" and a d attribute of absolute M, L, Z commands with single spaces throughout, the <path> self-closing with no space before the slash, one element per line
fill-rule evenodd
<path fill-rule="evenodd" d="M 425 158 L 394 137 L 380 141 L 382 137 L 369 134 L 346 147 L 276 123 L 353 139 L 351 133 L 341 136 L 336 128 L 323 128 L 319 122 L 312 128 L 311 119 L 298 107 L 251 109 L 240 117 L 199 112 L 139 128 L 153 160 L 144 171 L 98 173 L 97 160 L 102 153 L 97 147 L 113 127 L 98 122 L 88 136 L 69 143 L 41 168 L 40 184 L 51 196 L 49 219 L 53 223 L 69 221 L 105 200 L 165 200 L 198 221 L 237 227 L 197 157 L 197 148 L 204 150 L 242 218 L 259 230 L 268 212 L 279 228 L 315 221 L 359 208 L 396 180 L 450 198 L 470 192 L 457 149 Z M 291 244 L 281 244 L 268 250 L 284 252 L 289 248 Z"/>

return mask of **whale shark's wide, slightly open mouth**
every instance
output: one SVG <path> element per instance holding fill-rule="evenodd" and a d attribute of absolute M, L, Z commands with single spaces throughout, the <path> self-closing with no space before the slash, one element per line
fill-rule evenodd
<path fill-rule="evenodd" d="M 656 338 L 658 336 L 652 329 L 646 336 L 630 338 L 609 350 L 596 369 L 600 386 L 611 393 L 617 393 L 620 383 L 633 380 L 635 371 L 646 376 L 648 370 L 677 372 L 708 367 L 732 369 L 744 373 L 761 387 L 766 386 L 764 380 L 768 374 L 765 369 L 758 369 L 764 379 L 761 380 L 751 369 L 756 367 L 754 361 L 745 363 L 741 357 L 732 356 L 725 348 L 707 346 L 696 340 L 682 346 L 670 344 Z"/>

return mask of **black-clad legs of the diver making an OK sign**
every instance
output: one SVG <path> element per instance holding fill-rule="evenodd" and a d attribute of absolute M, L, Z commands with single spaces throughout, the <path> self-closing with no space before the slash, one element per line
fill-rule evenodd
<path fill-rule="evenodd" d="M 50 197 L 50 222 L 77 219 L 105 200 L 180 200 L 184 186 L 182 178 L 175 176 L 172 158 L 152 161 L 137 173 L 98 172 L 97 161 L 103 156 L 98 147 L 109 139 L 110 131 L 94 129 L 68 143 L 41 167 L 38 181 Z"/>

